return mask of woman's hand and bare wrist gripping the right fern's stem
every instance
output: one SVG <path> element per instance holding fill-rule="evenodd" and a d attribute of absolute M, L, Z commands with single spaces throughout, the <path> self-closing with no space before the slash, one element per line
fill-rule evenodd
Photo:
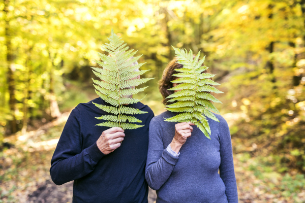
<path fill-rule="evenodd" d="M 182 145 L 186 143 L 187 138 L 191 137 L 191 132 L 193 132 L 191 125 L 194 124 L 191 122 L 182 122 L 175 125 L 175 136 L 170 143 L 170 147 L 174 152 L 178 153 Z"/>

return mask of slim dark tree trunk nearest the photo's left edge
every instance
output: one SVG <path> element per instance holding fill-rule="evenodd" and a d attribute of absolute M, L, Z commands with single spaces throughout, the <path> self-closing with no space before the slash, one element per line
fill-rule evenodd
<path fill-rule="evenodd" d="M 11 30 L 10 30 L 10 17 L 8 15 L 9 10 L 9 0 L 4 0 L 4 8 L 3 11 L 5 15 L 5 45 L 7 47 L 7 83 L 9 90 L 9 106 L 11 111 L 12 120 L 10 121 L 10 131 L 11 133 L 17 132 L 17 124 L 15 117 L 15 109 L 16 109 L 16 99 L 15 99 L 15 79 L 14 79 L 14 64 L 13 64 L 13 50 L 11 45 Z"/>

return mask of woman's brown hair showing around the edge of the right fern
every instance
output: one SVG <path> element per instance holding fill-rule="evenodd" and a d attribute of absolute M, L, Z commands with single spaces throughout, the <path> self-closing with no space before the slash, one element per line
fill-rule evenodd
<path fill-rule="evenodd" d="M 196 57 L 195 55 L 193 56 L 194 58 Z M 199 59 L 200 60 L 200 59 Z M 204 64 L 202 64 L 204 66 Z M 170 105 L 172 102 L 168 102 L 169 99 L 168 97 L 170 94 L 174 93 L 172 90 L 168 90 L 173 87 L 173 83 L 170 81 L 173 81 L 176 79 L 173 74 L 176 74 L 178 72 L 175 71 L 175 69 L 182 69 L 183 65 L 177 63 L 177 58 L 174 57 L 165 67 L 162 78 L 159 80 L 159 91 L 162 94 L 163 100 L 162 103 L 164 105 Z M 203 71 L 202 73 L 209 73 L 208 70 Z M 211 78 L 210 78 L 211 79 Z"/>

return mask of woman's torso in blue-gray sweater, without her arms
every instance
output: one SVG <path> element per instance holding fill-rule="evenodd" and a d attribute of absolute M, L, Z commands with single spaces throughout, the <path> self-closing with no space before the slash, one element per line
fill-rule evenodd
<path fill-rule="evenodd" d="M 164 149 L 174 137 L 176 124 L 164 118 L 173 115 L 176 114 L 167 111 L 157 116 L 163 129 Z M 218 123 L 208 121 L 211 139 L 193 126 L 192 136 L 181 147 L 170 177 L 157 191 L 157 202 L 227 202 L 225 185 L 218 174 L 221 162 Z"/>

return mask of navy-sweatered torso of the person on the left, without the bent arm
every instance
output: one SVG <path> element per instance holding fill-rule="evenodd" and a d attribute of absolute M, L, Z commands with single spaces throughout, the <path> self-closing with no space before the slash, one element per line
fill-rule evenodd
<path fill-rule="evenodd" d="M 101 98 L 93 100 L 102 104 Z M 141 103 L 133 105 L 148 111 L 147 114 L 134 115 L 142 120 L 145 126 L 138 129 L 126 129 L 125 139 L 121 146 L 104 156 L 95 170 L 74 181 L 73 202 L 147 202 L 148 186 L 145 181 L 144 167 L 148 149 L 148 126 L 153 113 Z M 95 117 L 108 113 L 93 104 L 80 104 L 80 139 L 83 149 L 93 145 L 102 132 L 109 127 L 96 126 L 103 122 Z M 91 199 L 82 199 L 82 193 L 89 194 Z"/>

